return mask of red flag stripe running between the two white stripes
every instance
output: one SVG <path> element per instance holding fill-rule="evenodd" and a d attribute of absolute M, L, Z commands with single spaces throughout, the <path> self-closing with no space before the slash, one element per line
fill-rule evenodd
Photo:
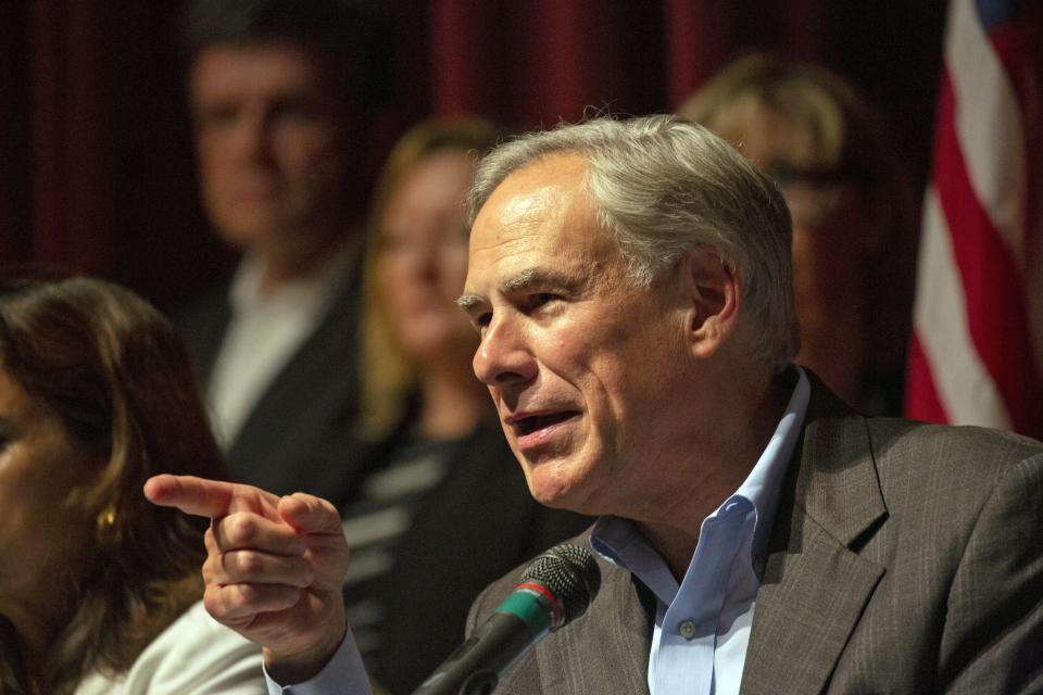
<path fill-rule="evenodd" d="M 1023 429 L 1043 389 L 1031 358 L 1019 269 L 993 227 L 967 175 L 955 130 L 952 76 L 943 71 L 935 136 L 934 185 L 963 280 L 971 341 L 1007 404 L 1015 429 Z M 998 146 L 997 146 L 998 147 Z"/>

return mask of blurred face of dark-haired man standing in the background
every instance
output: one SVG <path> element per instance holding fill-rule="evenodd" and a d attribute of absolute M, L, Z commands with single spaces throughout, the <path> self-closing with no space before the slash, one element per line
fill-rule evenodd
<path fill-rule="evenodd" d="M 213 46 L 192 64 L 189 99 L 203 205 L 226 242 L 322 243 L 342 231 L 344 114 L 317 53 Z"/>

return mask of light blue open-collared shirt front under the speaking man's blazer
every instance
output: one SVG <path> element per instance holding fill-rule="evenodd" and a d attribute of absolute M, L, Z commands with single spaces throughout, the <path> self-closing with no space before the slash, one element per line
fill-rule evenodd
<path fill-rule="evenodd" d="M 627 519 L 603 517 L 591 542 L 605 559 L 640 579 L 657 598 L 649 690 L 652 695 L 739 693 L 757 589 L 782 479 L 807 412 L 804 371 L 771 440 L 750 476 L 703 520 L 680 585 Z"/>

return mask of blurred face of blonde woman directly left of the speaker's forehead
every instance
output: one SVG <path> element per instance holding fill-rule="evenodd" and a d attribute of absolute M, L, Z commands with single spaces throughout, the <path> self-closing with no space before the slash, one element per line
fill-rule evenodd
<path fill-rule="evenodd" d="M 453 303 L 467 275 L 462 200 L 474 173 L 466 152 L 436 152 L 403 177 L 388 201 L 378 288 L 388 325 L 413 357 L 474 350 L 474 331 Z"/>

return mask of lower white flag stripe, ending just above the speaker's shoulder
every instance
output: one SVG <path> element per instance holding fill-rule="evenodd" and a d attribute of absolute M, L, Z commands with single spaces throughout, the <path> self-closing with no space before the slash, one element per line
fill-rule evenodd
<path fill-rule="evenodd" d="M 923 200 L 923 228 L 913 316 L 934 390 L 953 425 L 1011 429 L 1007 406 L 978 356 L 952 238 L 934 186 Z"/>

